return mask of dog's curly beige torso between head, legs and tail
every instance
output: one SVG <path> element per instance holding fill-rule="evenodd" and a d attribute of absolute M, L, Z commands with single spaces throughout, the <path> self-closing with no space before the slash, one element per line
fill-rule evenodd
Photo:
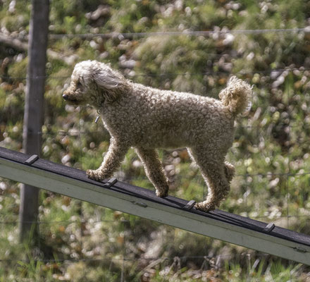
<path fill-rule="evenodd" d="M 125 132 L 132 146 L 187 147 L 233 137 L 233 114 L 218 99 L 133 83 L 132 89 L 103 114 L 111 135 Z"/>

